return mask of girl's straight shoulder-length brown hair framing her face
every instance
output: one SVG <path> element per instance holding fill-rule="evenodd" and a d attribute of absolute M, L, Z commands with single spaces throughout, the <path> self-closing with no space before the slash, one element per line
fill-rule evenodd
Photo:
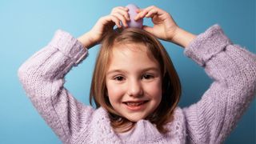
<path fill-rule="evenodd" d="M 118 115 L 106 95 L 106 70 L 112 50 L 114 46 L 128 43 L 144 44 L 148 48 L 149 56 L 159 63 L 162 72 L 162 100 L 154 113 L 146 119 L 154 123 L 162 134 L 165 134 L 168 130 L 164 126 L 173 120 L 174 109 L 178 105 L 182 88 L 178 74 L 165 48 L 157 38 L 145 30 L 136 28 L 111 30 L 102 39 L 90 87 L 90 104 L 92 105 L 92 100 L 94 100 L 97 108 L 100 106 L 105 108 L 109 112 L 111 126 L 114 128 L 124 128 L 123 131 L 127 131 L 134 126 L 134 122 Z"/>

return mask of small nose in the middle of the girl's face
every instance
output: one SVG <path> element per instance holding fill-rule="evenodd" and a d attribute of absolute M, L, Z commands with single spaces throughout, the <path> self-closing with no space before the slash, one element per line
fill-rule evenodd
<path fill-rule="evenodd" d="M 138 82 L 138 80 L 133 80 L 129 82 L 128 86 L 128 95 L 132 97 L 139 97 L 143 95 L 143 89 L 141 82 Z"/>

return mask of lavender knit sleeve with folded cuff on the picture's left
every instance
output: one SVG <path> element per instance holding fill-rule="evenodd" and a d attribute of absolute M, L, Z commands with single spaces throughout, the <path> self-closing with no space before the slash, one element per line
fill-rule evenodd
<path fill-rule="evenodd" d="M 78 102 L 63 86 L 66 73 L 82 62 L 86 54 L 87 49 L 76 38 L 58 30 L 52 41 L 18 70 L 31 102 L 64 143 L 82 126 L 88 126 L 94 111 Z"/>

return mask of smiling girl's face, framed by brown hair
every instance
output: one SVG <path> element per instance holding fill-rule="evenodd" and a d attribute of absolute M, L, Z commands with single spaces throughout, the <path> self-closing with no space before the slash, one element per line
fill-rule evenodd
<path fill-rule="evenodd" d="M 162 74 L 152 58 L 142 44 L 115 46 L 106 70 L 110 104 L 132 122 L 152 114 L 161 102 Z"/>

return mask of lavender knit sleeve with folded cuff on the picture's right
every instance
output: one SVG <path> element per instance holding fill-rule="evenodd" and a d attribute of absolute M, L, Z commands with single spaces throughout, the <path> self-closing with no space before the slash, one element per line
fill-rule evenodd
<path fill-rule="evenodd" d="M 218 25 L 184 51 L 214 82 L 201 100 L 184 108 L 189 143 L 222 143 L 253 100 L 256 55 L 234 45 Z"/>

